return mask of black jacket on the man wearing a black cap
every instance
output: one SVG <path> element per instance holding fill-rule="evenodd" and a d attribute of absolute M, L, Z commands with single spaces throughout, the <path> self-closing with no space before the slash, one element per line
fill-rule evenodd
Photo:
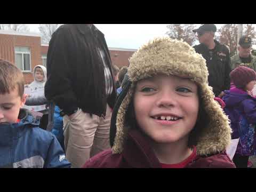
<path fill-rule="evenodd" d="M 217 97 L 221 91 L 229 90 L 230 88 L 230 54 L 225 45 L 214 40 L 215 49 L 210 55 L 209 49 L 205 44 L 195 45 L 195 51 L 202 54 L 206 60 L 206 66 L 209 71 L 209 85 L 213 87 L 213 93 Z"/>

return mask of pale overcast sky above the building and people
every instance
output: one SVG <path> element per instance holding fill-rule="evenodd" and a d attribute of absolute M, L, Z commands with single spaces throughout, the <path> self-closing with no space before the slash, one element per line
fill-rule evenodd
<path fill-rule="evenodd" d="M 39 24 L 28 24 L 39 33 Z M 154 37 L 166 36 L 167 24 L 94 24 L 103 34 L 108 47 L 138 49 Z M 198 24 L 199 26 L 199 24 Z M 217 24 L 219 29 L 222 25 Z"/>

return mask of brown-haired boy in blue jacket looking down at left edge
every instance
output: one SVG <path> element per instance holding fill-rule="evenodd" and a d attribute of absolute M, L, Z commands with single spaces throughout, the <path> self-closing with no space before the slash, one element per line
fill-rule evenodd
<path fill-rule="evenodd" d="M 24 79 L 12 63 L 0 59 L 0 167 L 70 167 L 55 136 L 39 129 L 26 109 Z"/>

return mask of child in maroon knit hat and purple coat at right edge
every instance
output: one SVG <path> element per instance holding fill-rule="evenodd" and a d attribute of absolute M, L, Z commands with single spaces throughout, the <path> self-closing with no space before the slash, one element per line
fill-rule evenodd
<path fill-rule="evenodd" d="M 256 98 L 251 95 L 256 73 L 251 68 L 239 66 L 231 71 L 230 79 L 235 86 L 225 91 L 222 100 L 231 121 L 232 139 L 239 138 L 233 161 L 236 167 L 246 168 L 249 157 L 256 155 Z"/>

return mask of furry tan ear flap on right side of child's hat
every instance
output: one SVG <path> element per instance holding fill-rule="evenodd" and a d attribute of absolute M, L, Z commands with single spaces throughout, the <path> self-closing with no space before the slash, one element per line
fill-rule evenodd
<path fill-rule="evenodd" d="M 229 119 L 220 105 L 214 101 L 212 87 L 206 83 L 201 85 L 202 104 L 209 116 L 209 122 L 204 127 L 197 143 L 198 155 L 211 155 L 219 153 L 229 146 L 231 141 L 231 128 Z"/>

